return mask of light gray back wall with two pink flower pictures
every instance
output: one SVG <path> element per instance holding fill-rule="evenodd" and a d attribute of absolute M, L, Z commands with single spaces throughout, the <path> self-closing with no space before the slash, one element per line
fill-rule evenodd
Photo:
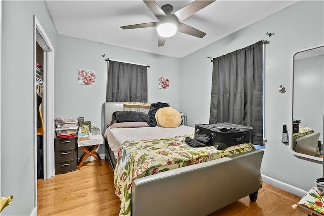
<path fill-rule="evenodd" d="M 180 107 L 180 59 L 100 44 L 89 40 L 59 36 L 58 66 L 55 73 L 55 117 L 84 117 L 100 125 L 104 133 L 102 105 L 106 101 L 106 58 L 148 64 L 148 102 L 166 102 Z M 103 58 L 101 55 L 105 54 Z M 96 71 L 96 85 L 79 85 L 77 69 Z M 158 88 L 158 77 L 170 79 L 170 89 Z M 179 110 L 181 111 L 181 110 Z M 104 154 L 101 145 L 99 154 Z M 79 149 L 79 156 L 82 150 Z"/>

